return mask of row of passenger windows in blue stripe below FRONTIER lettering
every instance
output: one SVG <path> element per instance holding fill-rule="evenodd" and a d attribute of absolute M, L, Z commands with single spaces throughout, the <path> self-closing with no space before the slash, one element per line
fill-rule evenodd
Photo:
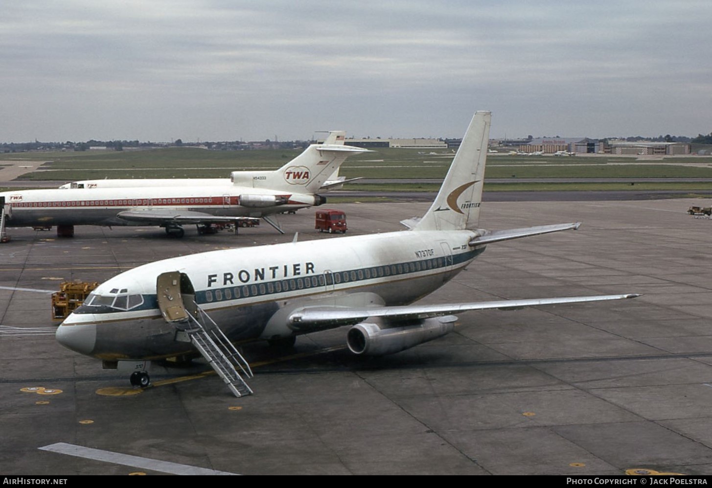
<path fill-rule="evenodd" d="M 309 289 L 315 286 L 331 286 L 333 284 L 347 283 L 349 281 L 382 278 L 383 276 L 414 273 L 415 271 L 426 271 L 427 269 L 440 268 L 444 266 L 444 264 L 444 258 L 434 258 L 426 259 L 425 261 L 391 264 L 390 266 L 374 266 L 372 268 L 363 268 L 354 271 L 338 271 L 335 273 L 303 276 L 281 281 L 268 281 L 267 283 L 235 286 L 234 288 L 207 290 L 205 292 L 205 299 L 206 301 L 232 300 L 233 298 L 248 298 L 250 296 L 281 293 L 283 291 Z"/>

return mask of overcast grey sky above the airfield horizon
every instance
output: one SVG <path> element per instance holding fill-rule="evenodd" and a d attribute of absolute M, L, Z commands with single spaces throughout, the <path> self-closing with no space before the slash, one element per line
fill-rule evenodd
<path fill-rule="evenodd" d="M 712 131 L 708 1 L 4 2 L 0 142 Z"/>

